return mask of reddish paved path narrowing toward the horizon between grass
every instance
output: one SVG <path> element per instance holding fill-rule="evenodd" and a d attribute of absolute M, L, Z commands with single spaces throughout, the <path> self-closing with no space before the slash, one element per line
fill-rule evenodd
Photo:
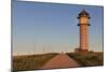
<path fill-rule="evenodd" d="M 66 54 L 59 54 L 49 60 L 42 69 L 55 69 L 55 68 L 70 68 L 70 67 L 80 67 L 77 61 L 71 59 Z"/>

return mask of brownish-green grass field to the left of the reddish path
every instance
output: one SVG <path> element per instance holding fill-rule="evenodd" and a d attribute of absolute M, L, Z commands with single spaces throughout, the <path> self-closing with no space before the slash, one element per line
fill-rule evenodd
<path fill-rule="evenodd" d="M 24 71 L 24 70 L 38 70 L 40 69 L 49 59 L 56 56 L 56 53 L 42 54 L 42 55 L 24 55 L 13 57 L 13 71 Z"/>

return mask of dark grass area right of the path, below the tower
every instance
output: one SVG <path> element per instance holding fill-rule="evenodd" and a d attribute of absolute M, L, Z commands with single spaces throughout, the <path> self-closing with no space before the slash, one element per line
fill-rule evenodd
<path fill-rule="evenodd" d="M 67 55 L 82 67 L 104 66 L 103 53 L 67 53 Z"/>

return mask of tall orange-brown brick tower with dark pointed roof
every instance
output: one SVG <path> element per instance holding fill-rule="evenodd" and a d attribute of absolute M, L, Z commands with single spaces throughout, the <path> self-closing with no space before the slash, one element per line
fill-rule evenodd
<path fill-rule="evenodd" d="M 86 11 L 82 11 L 79 13 L 79 30 L 80 30 L 80 52 L 87 52 L 89 51 L 89 26 L 90 26 L 90 14 Z"/>

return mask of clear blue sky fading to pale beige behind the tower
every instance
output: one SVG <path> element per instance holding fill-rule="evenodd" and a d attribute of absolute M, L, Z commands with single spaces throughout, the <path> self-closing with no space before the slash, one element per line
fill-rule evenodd
<path fill-rule="evenodd" d="M 78 14 L 90 19 L 90 51 L 103 51 L 103 6 L 40 2 L 12 3 L 13 53 L 71 52 L 79 45 Z M 97 34 L 95 34 L 97 30 Z"/>

